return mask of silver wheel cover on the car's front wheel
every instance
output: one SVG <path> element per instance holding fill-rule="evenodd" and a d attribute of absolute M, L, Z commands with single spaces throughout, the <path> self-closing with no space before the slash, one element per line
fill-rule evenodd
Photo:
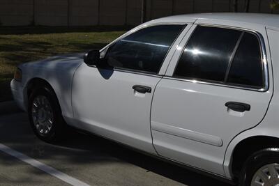
<path fill-rule="evenodd" d="M 44 95 L 33 99 L 31 107 L 33 125 L 39 134 L 48 134 L 53 127 L 54 115 L 50 101 Z"/>

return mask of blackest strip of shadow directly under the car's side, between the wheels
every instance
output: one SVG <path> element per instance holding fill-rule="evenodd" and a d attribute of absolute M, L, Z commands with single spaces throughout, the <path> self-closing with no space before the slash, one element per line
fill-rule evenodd
<path fill-rule="evenodd" d="M 202 173 L 190 171 L 185 167 L 172 164 L 156 157 L 146 155 L 138 150 L 118 144 L 109 139 L 98 137 L 94 134 L 82 133 L 77 130 L 70 130 L 70 136 L 75 136 L 74 139 L 56 143 L 56 146 L 64 146 L 67 148 L 75 148 L 89 151 L 98 149 L 100 154 L 106 154 L 115 157 L 123 162 L 128 162 L 136 166 L 140 166 L 146 171 L 152 171 L 166 178 L 175 180 L 185 185 L 222 185 L 229 186 L 229 183 L 223 183 L 220 180 L 204 176 Z M 92 141 L 98 141 L 92 143 Z"/>

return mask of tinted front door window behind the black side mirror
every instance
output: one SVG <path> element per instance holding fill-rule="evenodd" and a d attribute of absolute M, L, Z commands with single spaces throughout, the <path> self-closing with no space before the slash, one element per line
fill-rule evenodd
<path fill-rule="evenodd" d="M 107 51 L 107 63 L 116 68 L 157 73 L 183 25 L 150 26 L 116 42 Z"/>

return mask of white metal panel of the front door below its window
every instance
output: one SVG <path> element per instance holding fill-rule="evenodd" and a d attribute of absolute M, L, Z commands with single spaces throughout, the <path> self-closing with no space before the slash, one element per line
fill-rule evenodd
<path fill-rule="evenodd" d="M 82 64 L 73 81 L 74 118 L 86 129 L 91 127 L 89 130 L 97 130 L 100 135 L 155 154 L 150 131 L 153 94 L 137 93 L 132 87 L 139 84 L 153 90 L 159 81 L 160 77 L 98 70 Z"/>

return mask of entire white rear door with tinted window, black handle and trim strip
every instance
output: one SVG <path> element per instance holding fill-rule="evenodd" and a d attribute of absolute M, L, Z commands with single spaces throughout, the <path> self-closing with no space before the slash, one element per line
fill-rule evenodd
<path fill-rule="evenodd" d="M 196 25 L 181 42 L 152 103 L 159 155 L 224 175 L 229 142 L 260 123 L 271 100 L 262 34 Z"/>

